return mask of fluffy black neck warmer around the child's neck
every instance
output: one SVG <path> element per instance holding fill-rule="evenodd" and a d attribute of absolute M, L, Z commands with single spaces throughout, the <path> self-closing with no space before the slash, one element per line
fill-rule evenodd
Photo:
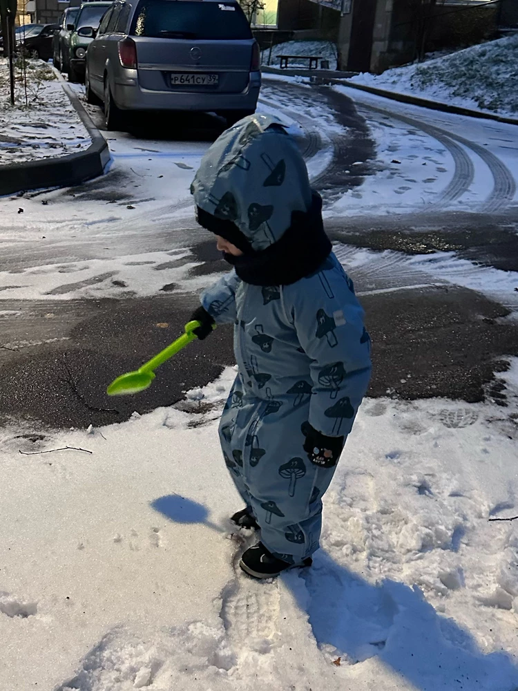
<path fill-rule="evenodd" d="M 291 226 L 274 245 L 239 257 L 223 256 L 244 283 L 290 285 L 315 272 L 331 250 L 322 220 L 322 199 L 314 193 L 309 211 L 294 211 Z"/>

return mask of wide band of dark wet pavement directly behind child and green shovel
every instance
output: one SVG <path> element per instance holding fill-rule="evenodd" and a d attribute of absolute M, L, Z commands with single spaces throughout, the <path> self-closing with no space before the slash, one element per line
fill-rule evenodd
<path fill-rule="evenodd" d="M 197 274 L 200 268 L 226 269 L 213 243 L 201 243 L 194 253 L 205 262 Z M 361 293 L 361 281 L 356 289 Z M 506 357 L 518 356 L 518 323 L 506 319 L 505 307 L 446 285 L 367 294 L 361 301 L 373 341 L 370 396 L 468 402 L 488 396 L 505 405 L 506 392 L 494 374 L 506 369 Z M 23 417 L 36 427 L 99 426 L 178 403 L 186 390 L 204 386 L 234 363 L 231 326 L 164 364 L 145 392 L 108 397 L 105 391 L 119 374 L 173 341 L 197 305 L 193 294 L 39 301 L 30 309 L 3 303 L 4 312 L 23 316 L 0 321 L 2 338 L 10 338 L 0 348 L 0 422 Z"/>

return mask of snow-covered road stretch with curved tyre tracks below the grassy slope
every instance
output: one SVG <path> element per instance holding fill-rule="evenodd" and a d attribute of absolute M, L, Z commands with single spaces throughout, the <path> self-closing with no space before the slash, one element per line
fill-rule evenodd
<path fill-rule="evenodd" d="M 518 200 L 515 125 L 389 102 L 347 86 L 334 88 L 352 98 L 365 117 L 376 142 L 376 160 L 374 174 L 345 193 L 327 210 L 330 215 L 434 207 L 499 211 Z"/>

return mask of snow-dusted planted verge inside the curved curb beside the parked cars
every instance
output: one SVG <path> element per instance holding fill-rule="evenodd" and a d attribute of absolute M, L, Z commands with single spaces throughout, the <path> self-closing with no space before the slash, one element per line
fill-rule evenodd
<path fill-rule="evenodd" d="M 91 144 L 79 116 L 50 65 L 26 61 L 15 67 L 15 106 L 10 104 L 8 61 L 0 59 L 0 165 L 77 153 Z"/>

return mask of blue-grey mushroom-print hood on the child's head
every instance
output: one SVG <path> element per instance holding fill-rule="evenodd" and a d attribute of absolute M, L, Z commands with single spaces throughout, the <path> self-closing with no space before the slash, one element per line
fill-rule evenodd
<path fill-rule="evenodd" d="M 191 193 L 201 216 L 228 222 L 209 227 L 206 219 L 202 225 L 240 247 L 233 224 L 254 252 L 277 243 L 291 227 L 294 211 L 305 213 L 312 202 L 296 142 L 274 117 L 261 114 L 245 117 L 214 142 Z"/>

